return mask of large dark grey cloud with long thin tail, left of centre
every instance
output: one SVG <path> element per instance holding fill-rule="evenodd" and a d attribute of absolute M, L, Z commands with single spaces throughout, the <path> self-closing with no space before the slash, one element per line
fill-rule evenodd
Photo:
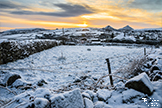
<path fill-rule="evenodd" d="M 56 17 L 75 17 L 83 14 L 94 13 L 94 9 L 87 5 L 72 5 L 72 4 L 55 4 L 54 6 L 59 7 L 62 11 L 60 12 L 33 12 L 33 11 L 13 11 L 11 14 L 19 15 L 48 15 Z"/>

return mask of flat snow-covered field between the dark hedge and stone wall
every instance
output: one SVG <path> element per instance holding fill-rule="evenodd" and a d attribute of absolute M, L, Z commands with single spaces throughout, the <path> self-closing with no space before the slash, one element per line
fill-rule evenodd
<path fill-rule="evenodd" d="M 21 75 L 22 79 L 32 84 L 44 79 L 48 88 L 58 89 L 82 75 L 99 78 L 108 74 L 106 58 L 110 58 L 112 72 L 115 72 L 133 59 L 142 57 L 143 49 L 144 47 L 133 46 L 57 46 L 0 65 L 0 68 L 14 69 L 8 71 Z M 147 52 L 150 51 L 151 48 L 147 48 Z"/>

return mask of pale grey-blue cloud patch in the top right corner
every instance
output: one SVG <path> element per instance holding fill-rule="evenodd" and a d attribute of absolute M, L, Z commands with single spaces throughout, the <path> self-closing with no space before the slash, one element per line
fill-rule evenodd
<path fill-rule="evenodd" d="M 134 0 L 128 4 L 128 7 L 149 11 L 162 11 L 162 0 Z"/>

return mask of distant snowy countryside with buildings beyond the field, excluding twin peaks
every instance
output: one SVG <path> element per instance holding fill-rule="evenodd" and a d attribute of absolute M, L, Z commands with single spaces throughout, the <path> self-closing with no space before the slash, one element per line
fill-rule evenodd
<path fill-rule="evenodd" d="M 149 29 L 148 29 L 149 30 Z M 66 29 L 58 29 L 58 30 L 47 30 L 47 31 L 38 31 L 38 32 L 26 32 L 17 33 L 17 34 L 0 34 L 0 40 L 31 40 L 31 39 L 58 39 L 62 40 L 62 36 L 66 38 L 67 42 L 75 42 L 74 44 L 78 44 L 81 42 L 81 39 L 85 42 L 89 42 L 87 40 L 92 40 L 93 38 L 97 38 L 99 41 L 111 39 L 113 36 L 112 42 L 126 42 L 126 43 L 141 43 L 145 44 L 161 44 L 162 34 L 160 32 L 161 29 L 154 29 L 158 32 L 148 32 L 144 30 L 135 30 L 130 31 L 128 33 L 124 31 L 104 31 L 103 29 L 95 29 L 95 28 L 66 28 Z M 151 42 L 148 42 L 151 41 Z M 152 41 L 155 41 L 153 43 Z M 1 41 L 0 41 L 1 42 Z M 147 42 L 147 43 L 146 43 Z M 104 44 L 95 43 L 95 44 Z"/>

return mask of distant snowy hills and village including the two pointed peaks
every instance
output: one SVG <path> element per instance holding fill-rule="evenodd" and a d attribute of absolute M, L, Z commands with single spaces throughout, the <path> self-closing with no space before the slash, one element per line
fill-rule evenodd
<path fill-rule="evenodd" d="M 10 30 L 0 34 L 1 42 L 3 40 L 31 40 L 31 39 L 56 39 L 62 40 L 64 43 L 73 44 L 91 44 L 92 39 L 97 38 L 100 43 L 103 42 L 128 42 L 128 43 L 142 43 L 142 44 L 162 44 L 162 30 L 158 29 L 141 29 L 133 30 L 129 25 L 116 30 L 110 25 L 103 29 L 99 28 L 65 28 L 57 30 L 45 29 L 27 29 L 27 30 Z M 18 31 L 18 34 L 12 34 L 12 31 Z M 36 32 L 34 32 L 36 31 Z M 124 33 L 124 41 L 119 35 Z M 4 35 L 6 34 L 6 35 Z M 129 37 L 129 38 L 127 38 Z M 130 38 L 131 37 L 131 38 Z M 113 41 L 114 39 L 115 41 Z M 116 41 L 118 39 L 119 41 Z M 133 39 L 133 40 L 132 40 Z M 126 40 L 126 41 L 125 41 Z M 128 41 L 127 41 L 128 40 Z M 131 40 L 131 41 L 129 41 Z M 138 41 L 138 42 L 137 42 Z M 153 41 L 153 42 L 151 42 Z M 151 42 L 151 43 L 150 43 Z"/>

